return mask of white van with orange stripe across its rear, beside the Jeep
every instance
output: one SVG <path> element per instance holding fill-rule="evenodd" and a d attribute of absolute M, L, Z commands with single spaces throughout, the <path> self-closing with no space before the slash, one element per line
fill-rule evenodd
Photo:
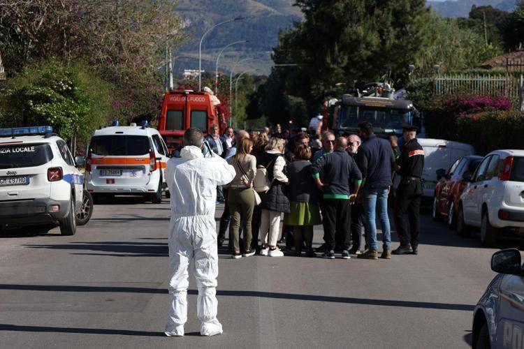
<path fill-rule="evenodd" d="M 168 148 L 154 128 L 110 126 L 93 133 L 86 159 L 86 188 L 99 195 L 139 195 L 160 203 L 166 189 Z"/>

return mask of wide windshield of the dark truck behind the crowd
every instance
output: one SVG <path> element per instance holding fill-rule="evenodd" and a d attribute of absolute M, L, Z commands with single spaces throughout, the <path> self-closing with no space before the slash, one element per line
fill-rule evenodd
<path fill-rule="evenodd" d="M 363 121 L 370 121 L 375 128 L 402 128 L 409 122 L 409 110 L 376 107 L 341 107 L 340 128 L 357 128 Z"/>

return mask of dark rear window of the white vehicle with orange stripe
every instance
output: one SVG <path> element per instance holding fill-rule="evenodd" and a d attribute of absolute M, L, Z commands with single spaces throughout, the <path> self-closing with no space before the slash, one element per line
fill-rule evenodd
<path fill-rule="evenodd" d="M 150 140 L 145 135 L 97 135 L 89 149 L 96 155 L 144 155 L 150 152 Z"/>

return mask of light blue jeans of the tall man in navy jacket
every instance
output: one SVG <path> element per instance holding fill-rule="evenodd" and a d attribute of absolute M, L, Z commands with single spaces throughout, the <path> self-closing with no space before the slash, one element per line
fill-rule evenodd
<path fill-rule="evenodd" d="M 379 220 L 382 226 L 382 248 L 391 249 L 391 230 L 388 217 L 388 188 L 364 189 L 362 193 L 364 223 L 367 230 L 367 246 L 377 251 L 377 224 L 375 210 L 379 211 Z"/>

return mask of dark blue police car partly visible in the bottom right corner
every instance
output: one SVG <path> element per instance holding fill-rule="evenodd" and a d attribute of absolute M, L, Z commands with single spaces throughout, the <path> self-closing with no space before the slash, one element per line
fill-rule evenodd
<path fill-rule="evenodd" d="M 488 285 L 473 313 L 473 348 L 524 348 L 524 268 L 521 253 L 507 248 L 493 254 L 500 273 Z"/>

